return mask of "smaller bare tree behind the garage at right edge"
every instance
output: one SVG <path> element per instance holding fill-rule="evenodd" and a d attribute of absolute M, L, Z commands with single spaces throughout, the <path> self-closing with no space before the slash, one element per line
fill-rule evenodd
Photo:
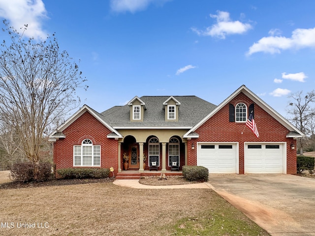
<path fill-rule="evenodd" d="M 314 124 L 315 108 L 313 103 L 315 102 L 315 91 L 312 90 L 306 95 L 303 95 L 303 91 L 291 93 L 288 96 L 293 99 L 289 105 L 292 107 L 287 113 L 290 115 L 290 121 L 306 135 L 312 135 L 312 126 Z M 305 146 L 307 138 L 300 139 L 300 154 L 303 154 L 303 148 Z"/>

